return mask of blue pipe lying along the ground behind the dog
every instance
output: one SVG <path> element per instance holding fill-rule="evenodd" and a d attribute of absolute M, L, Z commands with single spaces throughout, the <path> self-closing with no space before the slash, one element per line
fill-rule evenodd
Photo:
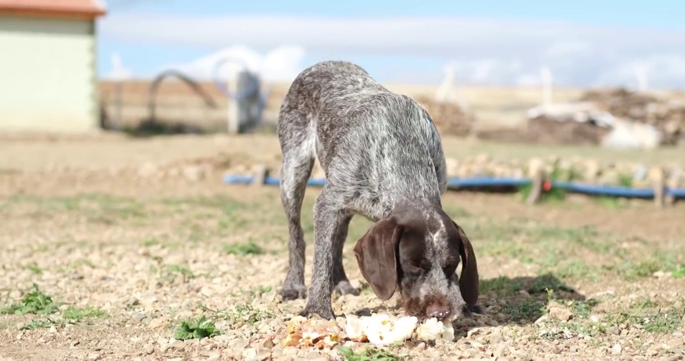
<path fill-rule="evenodd" d="M 227 175 L 224 176 L 223 181 L 227 184 L 249 184 L 254 181 L 254 177 Z M 325 183 L 325 178 L 310 178 L 310 180 L 307 182 L 307 185 L 313 187 L 323 187 Z M 469 187 L 520 187 L 530 183 L 531 180 L 528 178 L 492 178 L 476 176 L 471 178 L 449 178 L 447 180 L 447 187 L 452 189 Z M 273 176 L 267 176 L 264 179 L 264 185 L 280 185 L 280 180 L 279 178 Z M 654 189 L 651 188 L 632 188 L 615 185 L 590 185 L 565 181 L 552 181 L 551 187 L 564 189 L 573 193 L 584 193 L 593 196 L 654 198 Z M 685 198 L 685 188 L 667 188 L 665 189 L 665 192 L 668 196 L 673 196 L 674 198 Z"/>

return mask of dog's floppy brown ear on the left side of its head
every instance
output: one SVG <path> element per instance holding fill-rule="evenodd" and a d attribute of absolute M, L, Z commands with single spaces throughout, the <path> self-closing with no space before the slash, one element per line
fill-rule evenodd
<path fill-rule="evenodd" d="M 395 250 L 401 226 L 393 219 L 377 222 L 357 241 L 354 256 L 366 282 L 375 295 L 390 299 L 397 288 L 397 258 Z"/>

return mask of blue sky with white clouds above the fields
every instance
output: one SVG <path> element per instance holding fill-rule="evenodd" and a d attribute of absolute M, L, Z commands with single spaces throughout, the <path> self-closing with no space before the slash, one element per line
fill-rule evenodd
<path fill-rule="evenodd" d="M 225 75 L 237 59 L 291 81 L 327 59 L 381 82 L 685 88 L 685 1 L 105 0 L 103 78 L 175 69 Z M 219 67 L 218 67 L 219 66 Z M 217 72 L 218 70 L 218 72 Z"/>

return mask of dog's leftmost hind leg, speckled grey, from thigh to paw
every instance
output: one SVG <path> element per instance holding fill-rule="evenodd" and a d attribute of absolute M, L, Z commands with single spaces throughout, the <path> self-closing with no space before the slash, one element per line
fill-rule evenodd
<path fill-rule="evenodd" d="M 305 298 L 305 242 L 301 224 L 302 200 L 314 166 L 315 135 L 306 117 L 298 111 L 279 116 L 279 141 L 283 152 L 281 202 L 288 219 L 288 272 L 279 295 L 284 300 Z"/>

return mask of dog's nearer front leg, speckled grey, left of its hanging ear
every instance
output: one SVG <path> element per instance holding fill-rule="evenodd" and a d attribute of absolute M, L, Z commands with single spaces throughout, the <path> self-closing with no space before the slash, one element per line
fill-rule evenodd
<path fill-rule="evenodd" d="M 307 306 L 299 315 L 312 313 L 324 319 L 334 319 L 331 304 L 333 292 L 334 238 L 345 214 L 338 203 L 327 196 L 326 188 L 316 198 L 314 206 L 314 267 L 312 284 L 307 292 Z"/>

